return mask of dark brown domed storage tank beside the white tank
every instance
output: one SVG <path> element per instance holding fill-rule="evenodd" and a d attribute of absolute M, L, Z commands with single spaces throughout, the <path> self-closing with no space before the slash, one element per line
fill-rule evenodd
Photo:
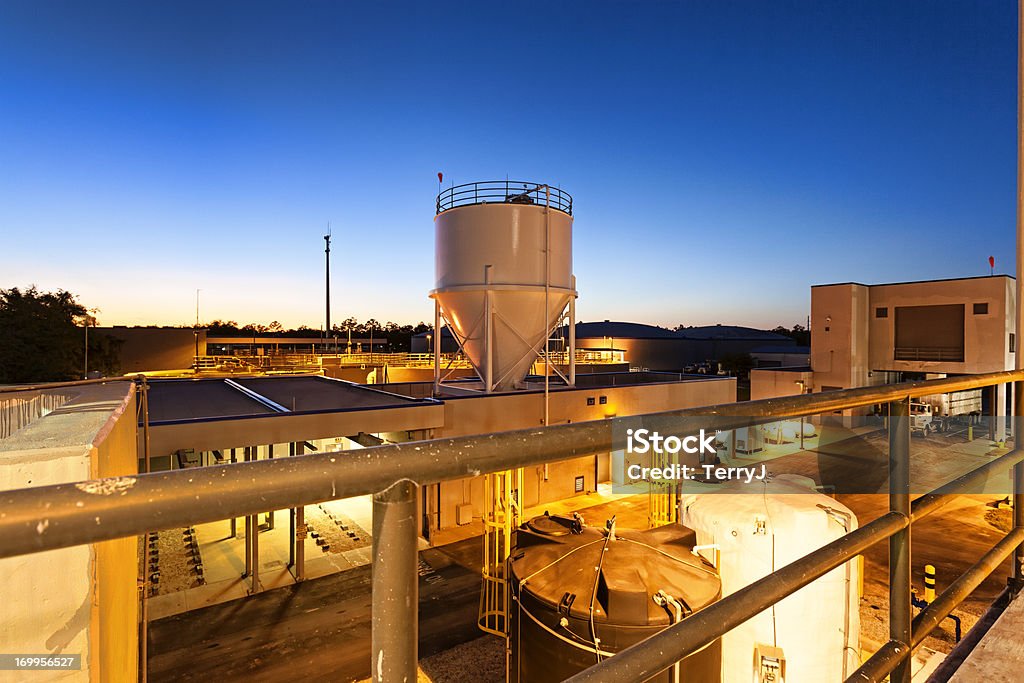
<path fill-rule="evenodd" d="M 717 600 L 718 577 L 690 552 L 693 540 L 678 524 L 612 538 L 564 517 L 523 524 L 509 558 L 508 680 L 565 680 Z M 719 641 L 679 667 L 680 680 L 718 681 Z"/>

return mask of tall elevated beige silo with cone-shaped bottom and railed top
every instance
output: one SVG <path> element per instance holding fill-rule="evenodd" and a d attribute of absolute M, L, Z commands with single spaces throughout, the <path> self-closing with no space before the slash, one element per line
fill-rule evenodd
<path fill-rule="evenodd" d="M 437 198 L 431 297 L 487 391 L 520 385 L 575 296 L 572 200 L 550 193 L 550 208 L 537 183 L 470 183 Z"/>

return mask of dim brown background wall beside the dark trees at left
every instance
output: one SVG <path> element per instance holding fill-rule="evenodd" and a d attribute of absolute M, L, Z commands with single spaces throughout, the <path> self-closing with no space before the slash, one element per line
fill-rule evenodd
<path fill-rule="evenodd" d="M 189 328 L 97 328 L 122 341 L 123 374 L 191 368 L 196 333 Z M 206 355 L 206 330 L 199 331 L 199 355 Z"/>

